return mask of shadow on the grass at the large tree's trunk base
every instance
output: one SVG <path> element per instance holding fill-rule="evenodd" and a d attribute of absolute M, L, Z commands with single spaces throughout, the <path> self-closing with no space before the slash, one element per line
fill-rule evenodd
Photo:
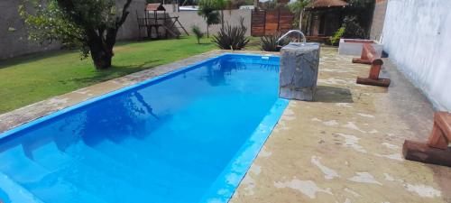
<path fill-rule="evenodd" d="M 160 61 L 161 60 L 147 60 L 141 64 L 128 65 L 128 66 L 113 65 L 109 69 L 95 70 L 96 74 L 94 76 L 85 77 L 85 78 L 72 78 L 69 81 L 76 82 L 76 83 L 94 84 L 97 82 L 103 82 L 103 81 L 113 79 L 113 78 L 123 77 L 123 76 L 129 75 L 129 74 L 132 74 L 134 72 L 138 72 L 138 71 L 141 71 L 144 69 L 152 69 L 153 67 L 160 65 L 160 63 L 159 63 Z"/>

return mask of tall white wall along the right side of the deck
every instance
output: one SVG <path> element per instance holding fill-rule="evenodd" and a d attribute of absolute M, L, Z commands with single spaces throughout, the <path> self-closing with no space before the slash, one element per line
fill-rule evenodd
<path fill-rule="evenodd" d="M 382 43 L 437 110 L 451 111 L 451 0 L 390 0 Z M 409 105 L 409 104 L 406 104 Z"/>

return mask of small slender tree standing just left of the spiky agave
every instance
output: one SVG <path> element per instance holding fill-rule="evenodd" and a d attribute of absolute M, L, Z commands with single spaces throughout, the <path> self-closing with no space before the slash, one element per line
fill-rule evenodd
<path fill-rule="evenodd" d="M 220 23 L 216 0 L 200 0 L 198 2 L 198 14 L 207 21 L 207 37 L 209 38 L 209 28 L 212 24 Z"/>

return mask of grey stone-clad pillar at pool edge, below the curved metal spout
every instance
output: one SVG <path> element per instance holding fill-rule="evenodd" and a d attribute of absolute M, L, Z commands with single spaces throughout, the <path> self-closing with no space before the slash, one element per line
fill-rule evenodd
<path fill-rule="evenodd" d="M 317 90 L 319 43 L 293 43 L 281 49 L 279 97 L 311 101 Z"/>

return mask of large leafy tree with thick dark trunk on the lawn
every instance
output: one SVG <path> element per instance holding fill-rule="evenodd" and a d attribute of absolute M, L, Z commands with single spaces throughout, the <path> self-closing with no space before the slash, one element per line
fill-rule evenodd
<path fill-rule="evenodd" d="M 29 28 L 29 38 L 38 42 L 57 41 L 78 48 L 82 58 L 91 56 L 96 69 L 111 67 L 117 32 L 125 22 L 133 0 L 116 5 L 115 0 L 24 0 L 35 12 L 19 6 Z"/>

